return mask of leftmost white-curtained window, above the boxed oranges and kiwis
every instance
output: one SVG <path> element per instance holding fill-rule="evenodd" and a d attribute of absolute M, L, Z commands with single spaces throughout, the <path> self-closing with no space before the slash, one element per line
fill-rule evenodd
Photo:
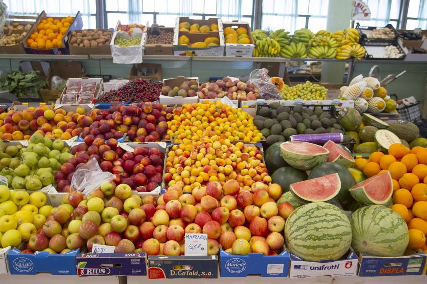
<path fill-rule="evenodd" d="M 4 0 L 9 14 L 37 16 L 45 11 L 48 16 L 75 16 L 78 11 L 84 29 L 96 28 L 96 0 Z"/>

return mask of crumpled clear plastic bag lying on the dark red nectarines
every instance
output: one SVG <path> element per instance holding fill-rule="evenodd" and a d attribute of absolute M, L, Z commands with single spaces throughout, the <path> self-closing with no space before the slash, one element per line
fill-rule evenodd
<path fill-rule="evenodd" d="M 80 191 L 85 195 L 94 191 L 104 182 L 113 180 L 113 174 L 103 172 L 95 158 L 78 168 L 71 180 L 70 191 Z"/>

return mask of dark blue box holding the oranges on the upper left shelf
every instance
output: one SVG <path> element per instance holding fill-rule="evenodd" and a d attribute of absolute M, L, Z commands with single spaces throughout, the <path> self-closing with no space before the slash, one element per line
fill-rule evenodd
<path fill-rule="evenodd" d="M 38 32 L 37 26 L 40 24 L 40 22 L 43 19 L 46 19 L 48 16 L 46 15 L 46 12 L 42 11 L 40 13 L 39 17 L 37 18 L 36 23 L 34 23 L 33 27 L 31 27 L 31 30 L 28 31 L 27 36 L 24 38 L 23 44 L 24 49 L 27 54 L 69 54 L 68 49 L 68 38 L 71 35 L 71 32 L 74 30 L 80 30 L 83 28 L 83 20 L 81 19 L 80 11 L 77 12 L 76 16 L 73 19 L 73 22 L 70 24 L 67 34 L 64 35 L 62 38 L 62 47 L 61 48 L 52 48 L 52 49 L 39 49 L 39 48 L 31 48 L 27 46 L 27 40 L 29 39 L 30 35 L 34 32 Z M 50 16 L 49 16 L 50 17 Z M 61 21 L 64 17 L 52 17 L 54 20 L 58 19 Z"/>

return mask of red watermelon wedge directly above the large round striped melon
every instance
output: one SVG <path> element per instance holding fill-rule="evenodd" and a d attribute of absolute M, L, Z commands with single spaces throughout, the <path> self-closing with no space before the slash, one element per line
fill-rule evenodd
<path fill-rule="evenodd" d="M 308 202 L 325 202 L 340 192 L 341 181 L 337 173 L 292 183 L 289 190 Z"/>

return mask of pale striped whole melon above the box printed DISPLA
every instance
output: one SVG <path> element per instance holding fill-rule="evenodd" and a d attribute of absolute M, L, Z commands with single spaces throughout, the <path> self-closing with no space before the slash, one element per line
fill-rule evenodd
<path fill-rule="evenodd" d="M 397 257 L 409 243 L 408 226 L 395 211 L 382 205 L 357 209 L 350 216 L 352 248 L 359 255 Z"/>

